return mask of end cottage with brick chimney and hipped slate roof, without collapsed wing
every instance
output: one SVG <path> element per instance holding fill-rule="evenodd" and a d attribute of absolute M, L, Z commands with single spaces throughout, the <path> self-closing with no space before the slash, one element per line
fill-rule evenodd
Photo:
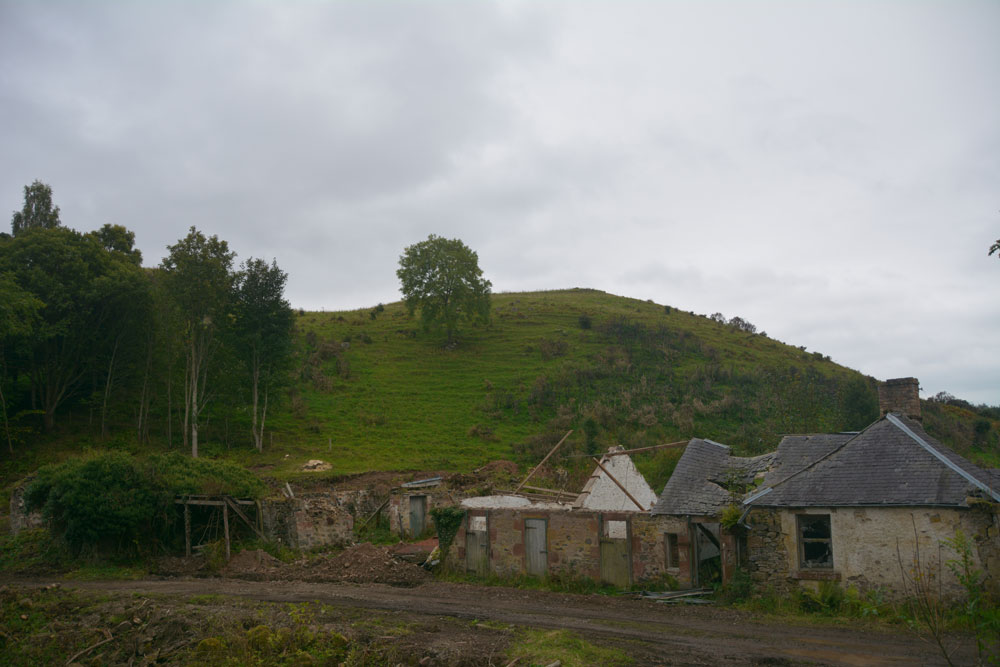
<path fill-rule="evenodd" d="M 947 566 L 958 534 L 998 590 L 1000 485 L 923 430 L 917 381 L 882 386 L 883 416 L 859 433 L 782 440 L 743 501 L 748 568 L 775 590 L 835 581 L 900 593 L 917 572 L 960 592 Z"/>

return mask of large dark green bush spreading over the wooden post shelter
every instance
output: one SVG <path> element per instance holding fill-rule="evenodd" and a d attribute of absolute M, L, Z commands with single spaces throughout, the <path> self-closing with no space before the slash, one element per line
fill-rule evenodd
<path fill-rule="evenodd" d="M 53 535 L 76 551 L 134 554 L 166 536 L 175 496 L 260 497 L 264 490 L 251 473 L 229 463 L 176 452 L 148 459 L 109 452 L 41 468 L 25 501 L 41 509 Z"/>

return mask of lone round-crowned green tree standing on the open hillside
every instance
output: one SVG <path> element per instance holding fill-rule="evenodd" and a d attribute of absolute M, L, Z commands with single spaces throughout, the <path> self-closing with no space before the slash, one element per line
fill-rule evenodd
<path fill-rule="evenodd" d="M 452 343 L 460 320 L 489 319 L 491 283 L 479 257 L 458 239 L 431 234 L 399 258 L 396 271 L 406 307 L 420 310 L 425 327 L 443 326 Z"/>

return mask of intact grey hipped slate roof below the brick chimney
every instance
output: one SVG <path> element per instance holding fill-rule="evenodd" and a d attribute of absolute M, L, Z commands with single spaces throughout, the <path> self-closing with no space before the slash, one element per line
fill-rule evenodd
<path fill-rule="evenodd" d="M 970 496 L 1000 501 L 993 475 L 903 415 L 886 415 L 857 435 L 840 439 L 806 443 L 795 455 L 779 446 L 780 464 L 745 502 L 756 507 L 967 507 Z M 786 441 L 796 442 L 786 438 L 782 444 Z M 817 458 L 794 470 L 802 461 L 799 455 L 812 454 Z M 788 459 L 782 460 L 784 456 Z"/>

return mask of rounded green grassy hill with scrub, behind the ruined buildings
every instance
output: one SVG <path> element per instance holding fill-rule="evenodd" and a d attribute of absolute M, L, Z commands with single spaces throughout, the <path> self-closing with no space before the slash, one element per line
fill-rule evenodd
<path fill-rule="evenodd" d="M 238 418 L 209 411 L 203 455 L 279 479 L 465 471 L 498 458 L 536 462 L 573 429 L 557 465 L 585 474 L 586 453 L 614 444 L 700 436 L 757 453 L 784 433 L 853 430 L 877 417 L 875 381 L 819 352 L 595 290 L 494 295 L 490 324 L 466 326 L 451 348 L 400 303 L 300 312 L 296 329 L 295 382 L 271 409 L 264 452 L 250 447 Z M 996 422 L 972 447 L 974 413 L 932 408 L 931 433 L 998 465 Z M 106 446 L 87 430 L 81 411 L 8 472 L 78 452 L 81 442 Z M 111 444 L 138 448 L 126 430 Z M 299 473 L 313 458 L 333 469 Z M 638 463 L 658 490 L 676 458 Z"/>

